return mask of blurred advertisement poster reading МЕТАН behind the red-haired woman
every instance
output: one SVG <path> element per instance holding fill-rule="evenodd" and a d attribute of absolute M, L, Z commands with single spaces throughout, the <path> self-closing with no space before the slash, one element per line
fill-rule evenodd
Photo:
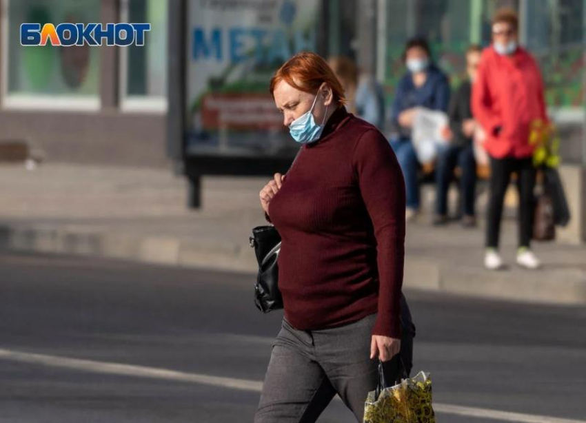
<path fill-rule="evenodd" d="M 269 83 L 293 54 L 315 50 L 314 0 L 189 3 L 188 154 L 290 156 Z"/>

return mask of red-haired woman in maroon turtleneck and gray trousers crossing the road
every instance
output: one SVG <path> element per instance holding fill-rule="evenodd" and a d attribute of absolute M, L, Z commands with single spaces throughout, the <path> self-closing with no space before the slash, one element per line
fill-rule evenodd
<path fill-rule="evenodd" d="M 320 56 L 294 56 L 270 91 L 302 147 L 286 177 L 260 193 L 282 238 L 285 316 L 254 421 L 314 422 L 337 393 L 362 422 L 378 360 L 394 367 L 401 348 L 401 167 L 383 134 L 346 112 Z"/>

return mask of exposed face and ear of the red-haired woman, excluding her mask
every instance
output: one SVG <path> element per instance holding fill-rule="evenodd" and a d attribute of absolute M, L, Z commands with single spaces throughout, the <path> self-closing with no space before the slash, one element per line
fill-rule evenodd
<path fill-rule="evenodd" d="M 287 127 L 296 118 L 309 111 L 314 100 L 315 106 L 312 114 L 315 122 L 321 125 L 325 118 L 326 107 L 332 104 L 332 90 L 326 83 L 319 87 L 316 99 L 314 94 L 297 90 L 286 81 L 281 80 L 274 87 L 273 96 L 276 108 L 283 114 L 283 125 Z"/>

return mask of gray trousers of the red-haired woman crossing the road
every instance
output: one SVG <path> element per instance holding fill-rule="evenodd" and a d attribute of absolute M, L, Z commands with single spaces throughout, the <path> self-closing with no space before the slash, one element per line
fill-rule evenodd
<path fill-rule="evenodd" d="M 363 421 L 364 402 L 378 382 L 370 360 L 376 313 L 343 327 L 298 331 L 283 319 L 273 344 L 254 423 L 313 423 L 336 393 Z M 396 378 L 397 369 L 385 369 Z"/>

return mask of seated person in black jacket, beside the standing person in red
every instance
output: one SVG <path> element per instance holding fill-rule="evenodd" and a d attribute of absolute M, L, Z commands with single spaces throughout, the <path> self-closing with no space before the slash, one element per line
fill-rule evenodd
<path fill-rule="evenodd" d="M 466 51 L 466 72 L 468 80 L 464 81 L 449 102 L 447 116 L 452 140 L 438 153 L 436 163 L 436 216 L 434 225 L 445 225 L 447 217 L 447 191 L 454 176 L 454 169 L 461 170 L 460 195 L 462 204 L 463 227 L 476 226 L 474 214 L 474 191 L 476 188 L 476 160 L 472 138 L 476 131 L 476 121 L 470 109 L 472 83 L 476 79 L 478 63 L 481 61 L 482 48 L 471 45 Z"/>

